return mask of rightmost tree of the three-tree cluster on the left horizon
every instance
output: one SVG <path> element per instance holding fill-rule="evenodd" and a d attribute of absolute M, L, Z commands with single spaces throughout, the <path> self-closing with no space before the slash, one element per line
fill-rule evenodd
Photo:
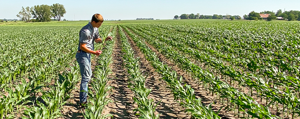
<path fill-rule="evenodd" d="M 60 18 L 63 17 L 64 14 L 66 14 L 65 7 L 58 3 L 51 5 L 51 11 L 52 17 L 54 17 L 54 19 L 57 19 L 58 21 L 60 21 Z"/>

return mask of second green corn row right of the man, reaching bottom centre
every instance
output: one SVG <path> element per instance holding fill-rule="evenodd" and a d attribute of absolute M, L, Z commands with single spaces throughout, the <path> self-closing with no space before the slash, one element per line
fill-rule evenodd
<path fill-rule="evenodd" d="M 119 35 L 122 43 L 122 52 L 124 64 L 127 68 L 129 76 L 128 88 L 134 92 L 133 100 L 138 104 L 138 108 L 134 111 L 139 111 L 139 118 L 143 119 L 158 119 L 160 114 L 155 115 L 155 108 L 159 102 L 154 106 L 152 98 L 148 99 L 148 96 L 152 89 L 148 89 L 145 86 L 145 80 L 147 76 L 143 75 L 140 71 L 139 57 L 134 58 L 134 51 L 128 43 L 128 39 L 122 28 L 118 26 Z"/>

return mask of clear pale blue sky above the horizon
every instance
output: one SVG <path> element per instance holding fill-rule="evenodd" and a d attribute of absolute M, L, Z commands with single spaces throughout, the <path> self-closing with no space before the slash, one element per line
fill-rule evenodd
<path fill-rule="evenodd" d="M 64 5 L 66 14 L 62 19 L 90 20 L 95 13 L 104 19 L 173 19 L 181 14 L 240 15 L 251 11 L 300 11 L 300 0 L 0 0 L 0 19 L 19 19 L 22 7 L 34 5 Z"/>

